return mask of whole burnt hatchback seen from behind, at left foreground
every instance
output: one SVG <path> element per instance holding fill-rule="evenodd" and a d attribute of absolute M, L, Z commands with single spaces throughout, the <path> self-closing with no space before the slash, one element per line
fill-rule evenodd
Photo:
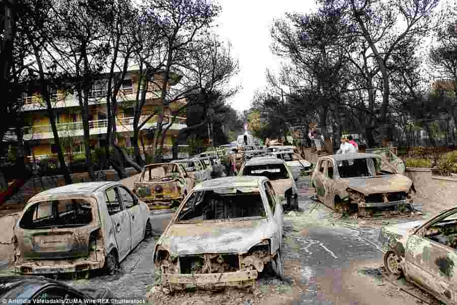
<path fill-rule="evenodd" d="M 14 271 L 112 272 L 152 234 L 148 206 L 118 182 L 85 182 L 30 198 L 14 227 Z"/>

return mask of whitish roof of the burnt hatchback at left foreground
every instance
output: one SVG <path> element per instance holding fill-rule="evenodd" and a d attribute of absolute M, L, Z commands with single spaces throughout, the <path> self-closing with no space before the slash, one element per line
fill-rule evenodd
<path fill-rule="evenodd" d="M 109 186 L 119 185 L 119 182 L 115 181 L 102 181 L 102 182 L 80 182 L 75 184 L 66 185 L 63 187 L 57 187 L 54 189 L 46 190 L 41 193 L 38 193 L 34 197 L 34 200 L 39 199 L 40 197 L 46 196 L 58 196 L 58 195 L 69 195 L 69 193 L 74 195 L 93 195 L 101 188 L 106 188 Z"/>

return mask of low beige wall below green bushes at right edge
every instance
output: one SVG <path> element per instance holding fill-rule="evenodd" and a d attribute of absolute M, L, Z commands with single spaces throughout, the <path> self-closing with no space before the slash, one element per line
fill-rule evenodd
<path fill-rule="evenodd" d="M 430 168 L 407 167 L 408 176 L 416 188 L 417 195 L 441 208 L 457 205 L 457 177 L 433 175 Z M 426 207 L 426 206 L 425 206 Z"/>

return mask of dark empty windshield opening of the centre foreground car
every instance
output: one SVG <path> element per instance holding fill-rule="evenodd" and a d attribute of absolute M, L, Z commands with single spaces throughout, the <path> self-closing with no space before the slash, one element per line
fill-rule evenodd
<path fill-rule="evenodd" d="M 177 222 L 266 217 L 258 189 L 194 192 L 179 212 Z"/>

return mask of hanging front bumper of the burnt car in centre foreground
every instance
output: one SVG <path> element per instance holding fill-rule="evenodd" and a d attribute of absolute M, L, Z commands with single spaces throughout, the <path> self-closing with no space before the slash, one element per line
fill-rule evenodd
<path fill-rule="evenodd" d="M 194 287 L 246 286 L 257 279 L 257 270 L 240 270 L 223 273 L 182 274 L 164 273 L 162 283 L 172 284 L 175 289 Z"/>

